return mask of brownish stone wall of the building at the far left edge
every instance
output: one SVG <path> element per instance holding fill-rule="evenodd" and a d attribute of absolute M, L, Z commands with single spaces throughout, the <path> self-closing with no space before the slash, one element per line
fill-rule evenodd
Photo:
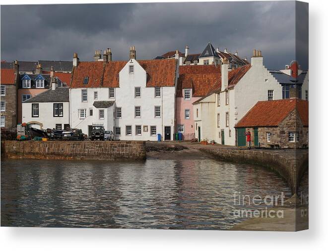
<path fill-rule="evenodd" d="M 4 127 L 6 130 L 16 130 L 16 85 L 5 84 L 5 95 L 1 96 L 1 101 L 5 101 L 5 111 L 1 111 L 4 118 Z"/>

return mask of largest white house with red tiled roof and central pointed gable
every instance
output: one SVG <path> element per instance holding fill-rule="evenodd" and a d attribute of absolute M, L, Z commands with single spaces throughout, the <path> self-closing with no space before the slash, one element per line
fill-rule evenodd
<path fill-rule="evenodd" d="M 102 123 L 116 139 L 155 141 L 157 134 L 173 139 L 178 60 L 137 61 L 131 47 L 129 61 L 110 61 L 105 52 L 103 61 L 78 62 L 76 55 L 74 62 L 72 127 L 89 135 L 92 124 Z M 106 101 L 111 101 L 107 111 L 95 105 Z"/>

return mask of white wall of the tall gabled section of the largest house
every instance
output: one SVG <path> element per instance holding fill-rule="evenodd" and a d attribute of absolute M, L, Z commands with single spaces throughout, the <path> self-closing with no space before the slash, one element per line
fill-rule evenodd
<path fill-rule="evenodd" d="M 129 74 L 129 65 L 134 65 L 134 74 Z M 146 72 L 132 59 L 120 72 L 120 88 L 116 89 L 116 107 L 122 107 L 122 118 L 115 119 L 115 126 L 121 127 L 121 140 L 156 141 L 150 136 L 150 126 L 156 126 L 156 134 L 163 137 L 164 127 L 171 127 L 171 140 L 175 132 L 175 93 L 176 87 L 161 87 L 161 97 L 155 97 L 155 88 L 146 87 Z M 141 97 L 134 97 L 134 87 L 141 88 Z M 141 106 L 141 118 L 134 117 L 134 107 Z M 155 106 L 161 106 L 161 117 L 155 118 Z M 126 135 L 126 126 L 132 126 L 132 135 Z M 148 126 L 148 132 L 135 135 L 135 125 Z M 163 137 L 164 139 L 164 137 Z"/>

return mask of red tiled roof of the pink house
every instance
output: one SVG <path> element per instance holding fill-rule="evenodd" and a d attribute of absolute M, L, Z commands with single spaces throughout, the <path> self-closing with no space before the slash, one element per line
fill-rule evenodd
<path fill-rule="evenodd" d="M 194 97 L 202 97 L 215 85 L 221 84 L 221 74 L 184 74 L 178 79 L 177 97 L 182 97 L 182 90 L 193 89 Z"/>

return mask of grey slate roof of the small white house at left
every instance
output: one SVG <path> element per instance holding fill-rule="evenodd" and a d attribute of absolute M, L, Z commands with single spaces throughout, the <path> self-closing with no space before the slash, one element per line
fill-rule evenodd
<path fill-rule="evenodd" d="M 69 87 L 49 89 L 25 100 L 23 103 L 69 102 Z"/>

